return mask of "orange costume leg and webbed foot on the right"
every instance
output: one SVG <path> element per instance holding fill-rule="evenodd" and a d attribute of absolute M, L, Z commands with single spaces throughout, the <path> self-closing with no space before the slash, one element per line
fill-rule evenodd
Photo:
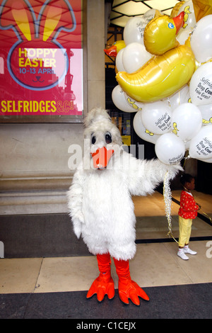
<path fill-rule="evenodd" d="M 119 298 L 122 302 L 129 304 L 129 299 L 136 305 L 140 305 L 139 297 L 149 300 L 145 291 L 131 280 L 129 261 L 114 259 L 117 275 L 119 276 Z"/>

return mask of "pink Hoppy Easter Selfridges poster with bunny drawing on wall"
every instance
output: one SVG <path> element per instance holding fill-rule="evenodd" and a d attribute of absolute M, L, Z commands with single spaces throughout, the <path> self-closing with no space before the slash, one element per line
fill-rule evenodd
<path fill-rule="evenodd" d="M 4 0 L 0 7 L 0 118 L 83 117 L 81 0 Z"/>

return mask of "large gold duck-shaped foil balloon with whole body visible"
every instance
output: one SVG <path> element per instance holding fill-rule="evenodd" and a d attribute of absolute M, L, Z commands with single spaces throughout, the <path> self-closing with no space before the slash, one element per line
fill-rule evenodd
<path fill-rule="evenodd" d="M 143 41 L 153 57 L 134 73 L 118 72 L 119 86 L 136 101 L 159 101 L 187 84 L 195 71 L 195 57 L 187 45 L 179 45 L 176 34 L 184 24 L 184 12 L 175 18 L 159 16 L 151 20 Z"/>

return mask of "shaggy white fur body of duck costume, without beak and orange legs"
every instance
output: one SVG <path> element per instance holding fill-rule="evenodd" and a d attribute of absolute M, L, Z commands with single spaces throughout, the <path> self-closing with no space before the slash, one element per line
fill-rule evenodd
<path fill-rule="evenodd" d="M 124 152 L 119 130 L 102 109 L 88 113 L 85 125 L 90 145 L 67 193 L 73 231 L 78 238 L 82 235 L 92 254 L 109 252 L 118 260 L 132 259 L 136 253 L 136 218 L 131 195 L 153 193 L 167 171 L 174 178 L 181 167 L 168 166 L 158 159 L 136 159 Z M 104 141 L 105 132 L 112 135 L 110 145 Z M 96 141 L 92 145 L 93 135 Z M 102 145 L 114 149 L 107 169 L 89 168 L 90 152 Z"/>

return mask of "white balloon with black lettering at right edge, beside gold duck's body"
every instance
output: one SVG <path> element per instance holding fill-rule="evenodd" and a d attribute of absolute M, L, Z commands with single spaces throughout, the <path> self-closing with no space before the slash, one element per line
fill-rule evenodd
<path fill-rule="evenodd" d="M 202 64 L 196 69 L 189 84 L 189 91 L 192 103 L 196 106 L 212 103 L 212 62 Z"/>

